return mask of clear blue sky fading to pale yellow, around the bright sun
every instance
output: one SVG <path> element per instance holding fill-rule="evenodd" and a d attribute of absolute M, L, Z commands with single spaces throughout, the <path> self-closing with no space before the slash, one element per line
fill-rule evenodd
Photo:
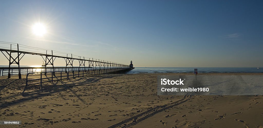
<path fill-rule="evenodd" d="M 2 1 L 0 41 L 128 65 L 132 60 L 134 67 L 263 67 L 262 7 L 257 0 Z M 46 34 L 32 33 L 35 23 Z M 42 60 L 25 55 L 20 65 Z M 0 65 L 8 65 L 2 53 Z"/>

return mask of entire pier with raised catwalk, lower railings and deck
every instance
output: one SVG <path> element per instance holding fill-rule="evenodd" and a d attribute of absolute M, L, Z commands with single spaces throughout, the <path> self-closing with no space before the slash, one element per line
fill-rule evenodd
<path fill-rule="evenodd" d="M 38 75 L 40 78 L 35 80 L 40 80 L 40 83 L 43 83 L 42 79 L 44 78 L 42 75 L 46 76 L 45 79 L 51 79 L 50 81 L 53 82 L 55 80 L 54 78 L 62 80 L 62 77 L 65 77 L 63 79 L 69 79 L 104 73 L 123 73 L 134 69 L 133 66 L 131 67 L 130 65 L 117 62 L 85 58 L 84 56 L 15 44 L 12 42 L 0 41 L 0 44 L 0 51 L 9 61 L 8 67 L 0 67 L 0 76 L 8 76 L 8 78 L 11 78 L 12 75 L 18 75 L 19 79 L 22 78 L 22 74 L 27 75 L 27 78 L 28 76 Z M 21 67 L 19 62 L 25 54 L 41 56 L 44 62 L 43 67 Z M 56 58 L 64 58 L 65 67 L 55 67 L 54 61 Z M 74 60 L 79 62 L 77 67 L 73 67 Z M 11 67 L 12 64 L 15 64 L 17 67 Z M 60 74 L 60 76 L 58 76 L 58 74 Z"/>

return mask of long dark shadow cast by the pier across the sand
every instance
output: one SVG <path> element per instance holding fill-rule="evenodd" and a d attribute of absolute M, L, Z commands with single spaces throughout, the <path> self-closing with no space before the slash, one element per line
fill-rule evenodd
<path fill-rule="evenodd" d="M 65 90 L 70 90 L 75 96 L 78 95 L 72 90 L 73 87 L 76 86 L 83 86 L 83 84 L 95 83 L 98 82 L 100 79 L 104 78 L 114 78 L 118 77 L 121 74 L 101 74 L 94 77 L 79 77 L 78 79 L 71 79 L 71 80 L 64 80 L 64 81 L 56 81 L 54 83 L 46 83 L 46 84 L 38 84 L 38 85 L 31 85 L 25 87 L 26 79 L 12 79 L 11 82 L 3 82 L 5 79 L 0 81 L 0 109 L 6 108 L 11 105 L 16 105 L 22 102 L 26 102 L 28 100 L 33 100 L 36 98 L 41 98 L 47 95 L 51 95 L 54 93 L 59 93 Z M 19 84 L 16 84 L 19 83 Z M 57 85 L 59 84 L 59 85 Z M 23 89 L 24 88 L 24 89 Z M 9 93 L 8 89 L 17 89 L 17 94 Z M 7 91 L 6 91 L 7 90 Z M 23 90 L 22 93 L 20 93 Z M 27 91 L 28 90 L 28 91 Z M 3 96 L 3 91 L 11 94 L 7 97 Z M 4 93 L 6 93 L 4 92 Z M 14 97 L 22 96 L 20 99 L 15 99 L 12 102 L 7 102 L 6 100 Z M 78 97 L 83 103 L 84 101 Z"/>

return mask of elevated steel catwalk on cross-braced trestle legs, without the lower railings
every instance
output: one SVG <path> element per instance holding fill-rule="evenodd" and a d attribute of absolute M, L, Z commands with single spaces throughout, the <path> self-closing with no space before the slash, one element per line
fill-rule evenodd
<path fill-rule="evenodd" d="M 85 58 L 84 56 L 76 56 L 74 54 L 71 54 L 71 56 L 68 56 L 70 54 L 64 53 L 64 52 L 58 52 L 54 50 L 47 50 L 47 49 L 42 49 L 42 48 L 37 48 L 37 47 L 31 47 L 31 46 L 26 46 L 22 44 L 15 44 L 12 42 L 3 42 L 0 41 L 0 51 L 4 54 L 4 56 L 7 58 L 9 61 L 9 67 L 8 67 L 8 78 L 11 77 L 10 69 L 12 64 L 18 65 L 18 76 L 19 79 L 21 79 L 21 67 L 19 64 L 19 61 L 22 59 L 22 57 L 25 54 L 29 55 L 39 55 L 42 56 L 43 58 L 43 66 L 45 66 L 45 72 L 47 72 L 47 67 L 48 65 L 52 66 L 52 71 L 54 72 L 54 61 L 56 58 L 64 58 L 66 62 L 66 67 L 71 66 L 73 67 L 73 61 L 78 60 L 79 62 L 79 68 L 80 66 L 84 66 L 88 68 L 91 68 L 92 70 L 100 70 L 102 68 L 105 69 L 115 69 L 115 68 L 127 68 L 129 65 L 124 65 L 121 63 L 116 63 L 116 62 L 110 62 L 110 61 L 104 61 L 100 59 L 94 59 L 94 58 Z M 16 46 L 16 47 L 12 47 Z M 21 49 L 22 47 L 22 49 Z M 51 53 L 50 53 L 51 52 Z M 15 54 L 14 54 L 15 53 Z M 55 54 L 53 54 L 55 53 Z M 12 55 L 11 55 L 12 54 Z M 86 63 L 88 62 L 88 63 Z M 88 65 L 85 65 L 88 64 Z"/>

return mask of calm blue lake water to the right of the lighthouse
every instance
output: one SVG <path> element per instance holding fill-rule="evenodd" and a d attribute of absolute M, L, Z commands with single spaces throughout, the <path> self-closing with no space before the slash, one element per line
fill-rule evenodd
<path fill-rule="evenodd" d="M 196 68 L 196 67 L 195 67 Z M 263 69 L 253 68 L 204 68 L 197 67 L 199 73 L 263 73 Z M 128 73 L 194 73 L 194 67 L 135 67 Z"/>

